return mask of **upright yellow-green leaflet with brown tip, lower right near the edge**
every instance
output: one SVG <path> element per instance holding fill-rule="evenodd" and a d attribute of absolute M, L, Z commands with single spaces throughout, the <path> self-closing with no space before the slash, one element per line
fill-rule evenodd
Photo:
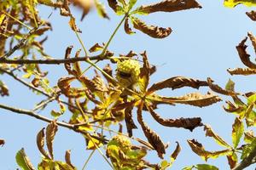
<path fill-rule="evenodd" d="M 232 125 L 232 142 L 234 144 L 234 148 L 236 148 L 237 145 L 239 144 L 243 131 L 243 123 L 239 118 L 236 117 L 236 120 Z"/>

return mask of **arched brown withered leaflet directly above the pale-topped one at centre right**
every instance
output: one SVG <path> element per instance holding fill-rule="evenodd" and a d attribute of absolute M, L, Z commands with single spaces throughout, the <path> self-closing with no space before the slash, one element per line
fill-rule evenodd
<path fill-rule="evenodd" d="M 171 77 L 162 82 L 154 83 L 150 88 L 148 88 L 148 92 L 151 94 L 154 91 L 163 89 L 163 88 L 183 88 L 183 87 L 191 87 L 191 88 L 200 88 L 201 86 L 208 86 L 206 81 L 196 80 L 188 77 Z"/>

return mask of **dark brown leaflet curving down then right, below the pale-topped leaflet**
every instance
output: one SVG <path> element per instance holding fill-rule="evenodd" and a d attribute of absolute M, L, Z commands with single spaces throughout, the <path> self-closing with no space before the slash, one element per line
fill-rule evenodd
<path fill-rule="evenodd" d="M 201 127 L 201 118 L 200 117 L 193 117 L 193 118 L 179 118 L 179 119 L 163 119 L 158 115 L 154 110 L 148 106 L 148 111 L 154 117 L 156 122 L 159 122 L 161 125 L 166 127 L 183 127 L 193 131 L 195 127 Z"/>

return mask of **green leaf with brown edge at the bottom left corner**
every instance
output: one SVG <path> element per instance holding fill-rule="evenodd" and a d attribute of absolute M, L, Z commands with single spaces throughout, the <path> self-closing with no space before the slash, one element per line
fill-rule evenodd
<path fill-rule="evenodd" d="M 25 150 L 22 148 L 19 150 L 15 156 L 17 164 L 21 167 L 22 170 L 34 170 L 32 163 L 29 161 L 29 158 L 26 156 Z"/>

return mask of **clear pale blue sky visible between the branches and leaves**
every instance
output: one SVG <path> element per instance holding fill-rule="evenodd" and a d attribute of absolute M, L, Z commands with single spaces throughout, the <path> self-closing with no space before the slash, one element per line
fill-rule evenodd
<path fill-rule="evenodd" d="M 104 1 L 104 3 L 106 2 Z M 152 2 L 156 1 L 139 1 L 139 3 L 146 4 Z M 255 91 L 255 76 L 231 77 L 226 71 L 228 68 L 243 66 L 237 55 L 236 45 L 247 35 L 247 31 L 252 31 L 256 34 L 255 23 L 245 14 L 251 8 L 243 6 L 233 9 L 224 8 L 222 0 L 199 0 L 198 2 L 201 3 L 201 9 L 190 9 L 175 13 L 157 13 L 141 17 L 148 24 L 172 27 L 170 37 L 161 40 L 154 39 L 140 31 L 137 31 L 137 34 L 133 36 L 128 36 L 125 34 L 124 29 L 121 28 L 117 36 L 114 37 L 109 49 L 116 54 L 127 54 L 131 49 L 137 53 L 147 50 L 150 63 L 157 65 L 157 72 L 151 77 L 151 83 L 176 76 L 194 77 L 202 80 L 212 77 L 215 82 L 224 87 L 228 79 L 231 78 L 236 82 L 237 91 L 241 93 Z M 63 58 L 67 46 L 73 44 L 74 49 L 81 48 L 73 31 L 68 26 L 67 18 L 60 17 L 57 10 L 41 9 L 41 14 L 44 18 L 53 12 L 49 20 L 54 30 L 48 33 L 49 39 L 45 43 L 45 51 L 48 54 L 55 58 Z M 119 20 L 121 20 L 121 17 L 113 15 L 113 11 L 110 8 L 107 9 L 111 20 L 103 20 L 97 16 L 96 11 L 92 11 L 85 17 L 83 22 L 79 22 L 78 26 L 83 31 L 81 37 L 86 47 L 90 48 L 96 42 L 106 42 Z M 72 8 L 72 10 L 79 19 L 80 11 L 75 11 L 75 8 Z M 251 47 L 249 51 L 253 52 Z M 251 54 L 255 57 L 253 53 Z M 51 86 L 56 84 L 58 77 L 67 76 L 67 71 L 64 70 L 63 65 L 44 65 L 43 68 L 44 71 L 49 70 Z M 32 109 L 36 103 L 44 99 L 44 97 L 36 96 L 19 83 L 14 82 L 10 77 L 1 76 L 1 79 L 7 82 L 9 86 L 10 97 L 0 98 L 0 103 Z M 163 91 L 162 94 L 176 96 L 195 91 L 195 89 L 189 88 L 177 91 L 168 89 Z M 201 88 L 200 91 L 205 93 L 207 88 Z M 44 116 L 50 116 L 49 111 L 55 105 L 55 103 L 52 103 L 40 113 Z M 210 124 L 216 133 L 231 144 L 230 133 L 234 116 L 225 113 L 222 105 L 224 105 L 224 102 L 203 109 L 187 105 L 164 106 L 160 107 L 157 112 L 163 117 L 172 118 L 201 116 L 204 123 Z M 67 112 L 66 114 L 67 116 L 61 117 L 61 120 L 67 120 L 70 113 Z M 166 159 L 174 150 L 175 141 L 181 144 L 183 150 L 177 157 L 172 169 L 181 169 L 188 165 L 204 163 L 199 156 L 190 150 L 186 142 L 187 139 L 197 139 L 205 146 L 206 150 L 223 149 L 218 144 L 215 144 L 211 138 L 205 137 L 202 127 L 196 128 L 193 133 L 190 133 L 184 129 L 162 127 L 151 116 L 146 114 L 144 119 L 150 127 L 160 133 L 160 137 L 166 143 L 170 143 Z M 0 148 L 0 169 L 14 170 L 17 167 L 15 153 L 21 147 L 25 148 L 26 154 L 30 157 L 32 163 L 37 165 L 40 160 L 40 153 L 36 145 L 36 135 L 45 126 L 46 123 L 32 117 L 19 116 L 9 111 L 1 110 L 0 138 L 5 139 L 6 144 L 3 148 Z M 135 130 L 134 135 L 145 139 L 141 130 Z M 72 150 L 73 164 L 81 169 L 90 154 L 84 148 L 84 139 L 80 134 L 73 133 L 62 127 L 59 128 L 55 136 L 55 159 L 64 160 L 65 150 Z M 160 161 L 155 152 L 149 155 L 148 161 Z M 225 157 L 217 160 L 209 159 L 208 163 L 220 169 L 229 168 Z M 96 151 L 87 169 L 108 170 L 110 167 Z M 247 169 L 253 169 L 253 167 Z"/>

